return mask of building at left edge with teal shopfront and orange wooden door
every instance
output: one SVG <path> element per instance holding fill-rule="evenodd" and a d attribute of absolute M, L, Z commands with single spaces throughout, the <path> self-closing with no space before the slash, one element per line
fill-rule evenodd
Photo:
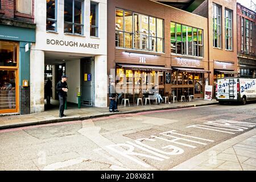
<path fill-rule="evenodd" d="M 34 0 L 0 0 L 0 114 L 30 113 Z"/>

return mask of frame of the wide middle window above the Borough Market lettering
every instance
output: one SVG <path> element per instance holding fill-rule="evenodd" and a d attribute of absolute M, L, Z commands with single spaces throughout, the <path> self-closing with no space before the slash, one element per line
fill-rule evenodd
<path fill-rule="evenodd" d="M 81 14 L 82 14 L 82 24 L 79 23 L 75 23 L 75 1 L 79 1 L 82 3 L 81 5 Z M 79 36 L 83 36 L 84 35 L 84 2 L 85 0 L 72 0 L 72 22 L 65 22 L 65 15 L 64 15 L 64 11 L 65 11 L 65 0 L 64 0 L 64 11 L 63 11 L 63 16 L 64 16 L 64 27 L 65 27 L 65 23 L 68 24 L 72 24 L 72 33 L 69 32 L 65 32 L 65 28 L 64 28 L 64 34 L 69 34 L 69 35 L 79 35 Z M 81 26 L 82 30 L 81 30 L 81 34 L 76 34 L 75 33 L 75 25 Z"/>

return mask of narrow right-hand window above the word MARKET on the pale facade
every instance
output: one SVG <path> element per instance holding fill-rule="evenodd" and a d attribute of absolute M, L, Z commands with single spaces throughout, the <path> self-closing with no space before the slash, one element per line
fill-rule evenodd
<path fill-rule="evenodd" d="M 98 36 L 98 4 L 90 2 L 90 36 Z"/>

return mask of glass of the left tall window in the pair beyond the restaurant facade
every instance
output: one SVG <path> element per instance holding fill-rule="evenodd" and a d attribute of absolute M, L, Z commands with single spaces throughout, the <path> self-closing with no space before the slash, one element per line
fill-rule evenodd
<path fill-rule="evenodd" d="M 213 3 L 213 47 L 221 48 L 221 6 Z"/>

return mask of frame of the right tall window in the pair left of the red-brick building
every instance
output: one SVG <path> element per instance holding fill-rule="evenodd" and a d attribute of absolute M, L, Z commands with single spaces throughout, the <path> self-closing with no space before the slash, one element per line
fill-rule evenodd
<path fill-rule="evenodd" d="M 226 18 L 226 13 L 230 13 L 230 18 L 231 19 L 229 19 L 229 18 Z M 229 14 L 228 14 L 228 16 L 229 16 Z M 228 22 L 226 22 L 228 20 Z M 229 20 L 230 20 L 230 27 L 226 27 L 226 24 L 228 23 L 228 25 L 229 25 Z M 229 10 L 229 9 L 225 9 L 225 49 L 227 50 L 227 51 L 232 51 L 233 50 L 233 11 L 232 10 Z M 226 34 L 227 31 L 228 30 L 228 35 Z M 230 30 L 230 36 L 229 36 L 229 30 Z M 229 39 L 231 39 L 230 40 L 230 44 L 231 45 L 227 45 L 226 43 L 226 40 L 228 39 L 228 41 L 229 41 Z M 228 46 L 228 48 L 227 48 L 227 46 Z"/>

